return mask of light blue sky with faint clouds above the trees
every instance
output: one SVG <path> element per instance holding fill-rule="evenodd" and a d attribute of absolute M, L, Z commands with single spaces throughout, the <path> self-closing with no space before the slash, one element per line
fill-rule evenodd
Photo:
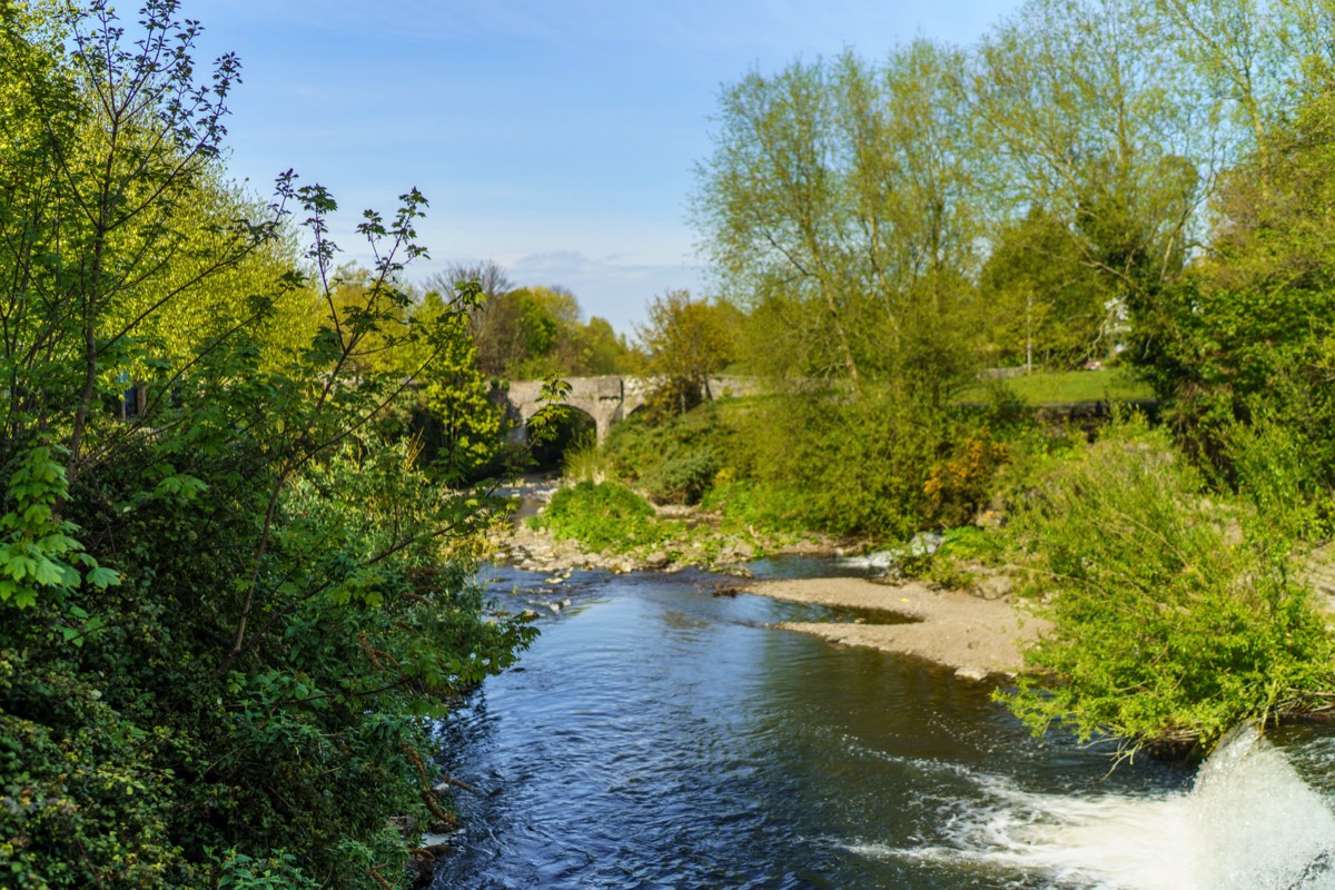
<path fill-rule="evenodd" d="M 340 205 L 335 240 L 431 203 L 430 260 L 494 259 L 561 284 L 622 332 L 670 288 L 708 291 L 688 219 L 718 89 L 850 47 L 972 44 L 1013 0 L 184 0 L 200 55 L 235 51 L 228 168 L 254 191 L 294 168 Z"/>

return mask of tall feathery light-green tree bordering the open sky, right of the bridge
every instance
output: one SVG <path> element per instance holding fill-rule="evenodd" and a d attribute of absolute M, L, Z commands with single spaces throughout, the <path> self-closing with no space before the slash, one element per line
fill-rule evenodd
<path fill-rule="evenodd" d="M 963 65 L 917 41 L 724 89 L 694 213 L 729 299 L 782 319 L 790 348 L 753 352 L 936 402 L 967 375 L 983 156 Z"/>

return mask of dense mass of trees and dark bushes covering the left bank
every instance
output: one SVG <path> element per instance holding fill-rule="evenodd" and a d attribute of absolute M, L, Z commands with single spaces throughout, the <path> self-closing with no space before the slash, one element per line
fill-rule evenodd
<path fill-rule="evenodd" d="M 0 4 L 0 882 L 382 887 L 430 717 L 533 635 L 470 582 L 495 504 L 378 431 L 387 356 L 475 378 L 400 286 L 419 193 L 340 271 L 326 189 L 219 187 L 236 61 L 175 9 Z"/>

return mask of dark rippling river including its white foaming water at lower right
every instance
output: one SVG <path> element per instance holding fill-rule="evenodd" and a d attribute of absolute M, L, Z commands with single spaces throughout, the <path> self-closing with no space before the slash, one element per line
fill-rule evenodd
<path fill-rule="evenodd" d="M 437 889 L 1335 887 L 1328 734 L 1109 774 L 984 685 L 768 626 L 822 610 L 692 574 L 549 580 L 493 572 L 542 635 L 439 727 L 478 794 Z"/>

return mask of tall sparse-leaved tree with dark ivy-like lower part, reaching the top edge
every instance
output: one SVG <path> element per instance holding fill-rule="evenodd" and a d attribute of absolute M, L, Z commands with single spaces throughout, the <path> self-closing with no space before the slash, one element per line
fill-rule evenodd
<path fill-rule="evenodd" d="M 1067 227 L 1144 364 L 1160 346 L 1160 291 L 1196 243 L 1220 161 L 1206 125 L 1218 97 L 1175 33 L 1147 4 L 1032 0 L 984 40 L 973 75 L 996 200 Z"/>

